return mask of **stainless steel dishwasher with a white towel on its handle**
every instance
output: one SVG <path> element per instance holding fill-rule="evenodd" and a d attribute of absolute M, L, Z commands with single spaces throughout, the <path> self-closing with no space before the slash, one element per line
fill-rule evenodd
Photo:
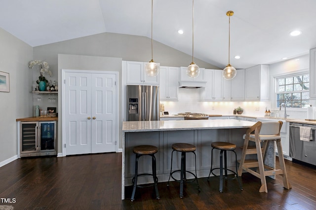
<path fill-rule="evenodd" d="M 300 127 L 311 127 L 313 140 L 300 140 Z M 316 142 L 315 142 L 316 125 L 290 123 L 290 157 L 293 160 L 303 161 L 305 163 L 316 165 Z"/>

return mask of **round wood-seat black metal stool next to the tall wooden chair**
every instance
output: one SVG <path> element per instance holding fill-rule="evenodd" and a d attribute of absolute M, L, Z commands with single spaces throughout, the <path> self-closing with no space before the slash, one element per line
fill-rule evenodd
<path fill-rule="evenodd" d="M 233 174 L 235 175 L 235 177 L 233 177 L 232 179 L 237 178 L 239 187 L 242 190 L 243 189 L 242 184 L 241 184 L 239 177 L 238 177 L 238 174 L 237 174 L 237 154 L 235 152 L 236 144 L 229 143 L 229 142 L 223 142 L 223 141 L 215 141 L 215 142 L 211 143 L 211 146 L 213 147 L 212 153 L 211 153 L 211 156 L 212 156 L 211 170 L 209 172 L 207 180 L 209 181 L 209 176 L 211 175 L 211 173 L 214 176 L 217 176 L 213 173 L 213 171 L 219 169 L 220 170 L 219 191 L 223 192 L 223 179 L 224 179 L 224 177 L 225 177 L 225 179 L 228 179 L 227 171 L 230 171 L 230 172 L 233 172 Z M 213 169 L 213 150 L 214 149 L 220 150 L 220 168 Z M 233 170 L 227 169 L 227 151 L 232 151 L 235 153 L 236 172 L 234 172 Z M 223 152 L 224 152 L 224 168 L 223 168 Z M 225 171 L 225 176 L 223 176 L 223 170 Z"/>

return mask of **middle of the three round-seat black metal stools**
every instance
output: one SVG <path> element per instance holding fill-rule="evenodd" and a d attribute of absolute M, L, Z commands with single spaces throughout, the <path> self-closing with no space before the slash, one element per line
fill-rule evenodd
<path fill-rule="evenodd" d="M 167 182 L 167 186 L 169 186 L 170 177 L 172 177 L 173 180 L 180 182 L 180 198 L 183 198 L 183 184 L 197 180 L 197 155 L 195 153 L 197 148 L 195 145 L 190 144 L 190 143 L 174 143 L 174 144 L 172 144 L 172 149 L 173 150 L 171 153 L 171 168 L 170 168 L 170 175 L 169 175 L 169 179 Z M 174 151 L 181 152 L 181 170 L 176 170 L 176 171 L 172 172 L 172 158 L 173 158 Z M 195 156 L 196 174 L 193 174 L 192 172 L 186 171 L 186 153 L 187 152 L 192 152 Z M 176 173 L 176 172 L 180 172 L 180 180 L 176 179 L 172 176 L 173 173 Z M 186 173 L 194 175 L 194 179 L 187 180 Z M 198 187 L 198 192 L 200 192 L 201 189 L 199 188 L 198 181 L 197 181 L 197 187 Z"/>

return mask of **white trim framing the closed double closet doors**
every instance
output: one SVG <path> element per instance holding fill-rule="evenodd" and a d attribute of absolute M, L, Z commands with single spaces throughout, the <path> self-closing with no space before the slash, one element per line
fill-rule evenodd
<path fill-rule="evenodd" d="M 61 70 L 61 81 L 62 81 L 62 84 L 59 85 L 59 87 L 61 87 L 61 111 L 59 111 L 59 113 L 61 112 L 61 119 L 62 119 L 62 156 L 66 156 L 66 147 L 65 147 L 65 144 L 66 144 L 66 131 L 65 131 L 65 122 L 66 122 L 66 116 L 63 112 L 63 110 L 65 110 L 66 108 L 66 93 L 65 93 L 65 74 L 66 72 L 71 72 L 71 73 L 104 73 L 104 74 L 115 74 L 116 75 L 116 78 L 117 78 L 117 83 L 116 83 L 116 92 L 118 92 L 118 72 L 117 71 L 102 71 L 102 70 L 69 70 L 69 69 L 62 69 Z M 118 98 L 119 98 L 119 94 L 117 95 L 116 97 L 116 103 L 118 105 Z M 119 107 L 119 106 L 118 106 Z M 118 145 L 119 145 L 119 135 L 118 135 L 118 112 L 119 110 L 117 110 L 117 114 L 116 114 L 116 134 L 117 134 L 117 144 L 116 144 L 116 152 L 118 152 Z"/>

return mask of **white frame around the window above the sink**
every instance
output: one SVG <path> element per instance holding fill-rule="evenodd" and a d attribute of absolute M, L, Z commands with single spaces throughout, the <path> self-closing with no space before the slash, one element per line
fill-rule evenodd
<path fill-rule="evenodd" d="M 274 80 L 274 91 L 273 91 L 273 100 L 272 100 L 273 107 L 275 107 L 276 109 L 279 109 L 279 107 L 277 107 L 277 105 L 276 105 L 277 94 L 278 94 L 278 92 L 277 92 L 278 91 L 278 79 L 286 78 L 286 77 L 293 77 L 293 76 L 301 76 L 301 75 L 305 75 L 305 74 L 309 74 L 310 75 L 309 69 L 293 71 L 291 73 L 282 73 L 282 74 L 278 74 L 278 75 L 274 75 L 273 76 L 273 80 Z M 310 77 L 311 77 L 311 75 L 310 75 Z M 310 78 L 310 82 L 311 82 L 311 78 Z M 309 100 L 309 101 L 310 101 L 310 104 L 311 104 L 311 100 Z M 302 107 L 302 108 L 286 107 L 286 109 L 288 109 L 288 110 L 302 110 L 303 108 L 304 107 Z"/>

